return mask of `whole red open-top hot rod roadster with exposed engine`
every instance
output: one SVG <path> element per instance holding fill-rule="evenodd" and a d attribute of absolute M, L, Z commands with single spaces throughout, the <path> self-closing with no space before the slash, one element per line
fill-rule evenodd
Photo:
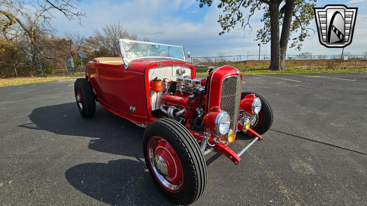
<path fill-rule="evenodd" d="M 157 187 L 173 202 L 189 205 L 206 187 L 204 155 L 221 152 L 238 165 L 273 121 L 266 100 L 241 92 L 242 74 L 232 66 L 207 66 L 195 78 L 182 46 L 119 40 L 121 58 L 95 58 L 75 82 L 80 113 L 92 117 L 95 102 L 145 128 L 143 154 Z M 203 65 L 200 65 L 203 66 Z M 228 145 L 237 133 L 253 139 L 243 150 Z"/>

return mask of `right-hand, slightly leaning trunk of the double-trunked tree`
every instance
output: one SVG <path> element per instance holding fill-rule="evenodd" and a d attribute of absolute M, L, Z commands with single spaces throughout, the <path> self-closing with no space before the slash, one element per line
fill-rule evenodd
<path fill-rule="evenodd" d="M 286 69 L 285 60 L 288 48 L 288 40 L 290 36 L 290 29 L 292 24 L 293 10 L 294 10 L 294 0 L 286 0 L 286 4 L 284 5 L 283 26 L 281 28 L 281 35 L 280 35 L 280 53 L 279 53 L 280 71 L 284 71 Z"/>

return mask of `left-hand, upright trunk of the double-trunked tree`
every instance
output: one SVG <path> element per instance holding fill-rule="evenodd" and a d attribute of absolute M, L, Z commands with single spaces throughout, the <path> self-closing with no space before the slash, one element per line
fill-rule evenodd
<path fill-rule="evenodd" d="M 270 11 L 270 70 L 282 70 L 280 63 L 279 4 L 269 4 Z"/>

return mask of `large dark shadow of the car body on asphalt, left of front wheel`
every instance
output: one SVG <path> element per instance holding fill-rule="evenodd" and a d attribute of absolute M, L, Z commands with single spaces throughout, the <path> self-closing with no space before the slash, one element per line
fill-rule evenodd
<path fill-rule="evenodd" d="M 76 103 L 70 102 L 35 108 L 29 119 L 32 123 L 19 126 L 58 135 L 91 137 L 88 144 L 91 150 L 143 158 L 144 129 L 110 113 L 98 103 L 91 118 L 82 117 Z"/>

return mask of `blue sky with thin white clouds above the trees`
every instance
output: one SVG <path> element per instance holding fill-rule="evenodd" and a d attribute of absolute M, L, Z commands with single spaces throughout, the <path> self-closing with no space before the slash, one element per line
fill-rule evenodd
<path fill-rule="evenodd" d="M 354 54 L 367 51 L 367 0 L 317 1 L 317 7 L 324 7 L 326 4 L 358 7 L 353 41 L 344 51 Z M 87 18 L 82 20 L 82 26 L 77 21 L 68 21 L 59 13 L 55 13 L 57 19 L 53 26 L 60 34 L 80 32 L 88 37 L 93 28 L 120 21 L 139 37 L 147 36 L 151 41 L 159 43 L 184 45 L 192 56 L 215 56 L 219 52 L 226 55 L 247 55 L 247 52 L 250 55 L 258 54 L 258 42 L 254 39 L 256 30 L 263 26 L 260 22 L 263 13 L 259 12 L 251 18 L 252 33 L 234 29 L 219 36 L 222 29 L 217 21 L 222 10 L 217 5 L 218 2 L 214 1 L 211 7 L 199 8 L 196 0 L 83 0 L 79 8 L 86 12 Z M 246 14 L 247 10 L 243 12 Z M 315 20 L 310 27 L 316 29 Z M 301 51 L 291 48 L 287 54 L 297 55 L 303 51 L 310 51 L 314 55 L 334 55 L 339 54 L 341 49 L 322 46 L 316 34 L 304 42 Z M 261 54 L 270 54 L 270 43 L 261 45 Z"/>

